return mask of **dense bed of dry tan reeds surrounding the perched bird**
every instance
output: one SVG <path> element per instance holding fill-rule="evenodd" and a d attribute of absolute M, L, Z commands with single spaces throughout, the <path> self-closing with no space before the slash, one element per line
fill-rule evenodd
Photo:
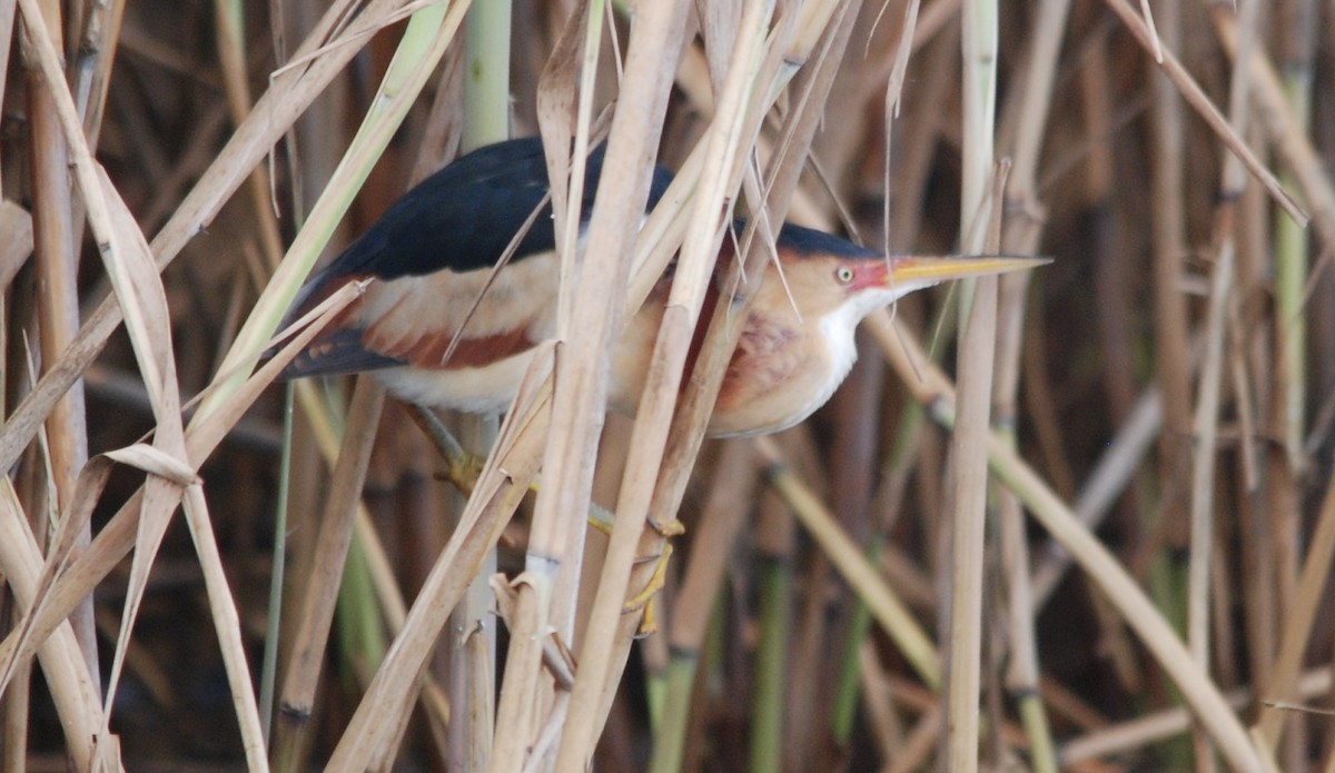
<path fill-rule="evenodd" d="M 1335 769 L 1328 4 L 0 0 L 0 29 L 4 770 Z M 503 417 L 275 383 L 352 299 L 262 358 L 314 266 L 539 132 L 607 160 Z M 578 184 L 553 200 L 573 254 Z M 1052 263 L 873 314 L 810 421 L 705 441 L 770 259 L 744 240 L 706 303 L 730 211 Z M 639 415 L 603 421 L 669 266 Z"/>

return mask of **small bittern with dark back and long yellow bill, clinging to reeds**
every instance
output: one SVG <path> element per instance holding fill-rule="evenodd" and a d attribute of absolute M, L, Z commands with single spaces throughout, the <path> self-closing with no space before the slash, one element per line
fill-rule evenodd
<path fill-rule="evenodd" d="M 603 152 L 598 146 L 586 162 L 581 230 Z M 646 208 L 670 182 L 668 170 L 654 168 Z M 557 334 L 559 259 L 547 194 L 539 138 L 485 146 L 426 178 L 298 291 L 288 319 L 344 284 L 371 280 L 283 376 L 368 371 L 390 394 L 419 406 L 466 413 L 509 407 L 535 347 Z M 527 232 L 493 278 L 526 223 Z M 724 251 L 732 248 L 724 239 Z M 888 256 L 790 223 L 780 228 L 774 255 L 742 323 L 709 437 L 761 435 L 808 418 L 853 367 L 854 328 L 873 310 L 947 279 L 1047 262 Z M 718 264 L 721 278 L 725 260 Z M 634 414 L 670 287 L 672 268 L 629 315 L 610 355 L 609 410 Z"/>

